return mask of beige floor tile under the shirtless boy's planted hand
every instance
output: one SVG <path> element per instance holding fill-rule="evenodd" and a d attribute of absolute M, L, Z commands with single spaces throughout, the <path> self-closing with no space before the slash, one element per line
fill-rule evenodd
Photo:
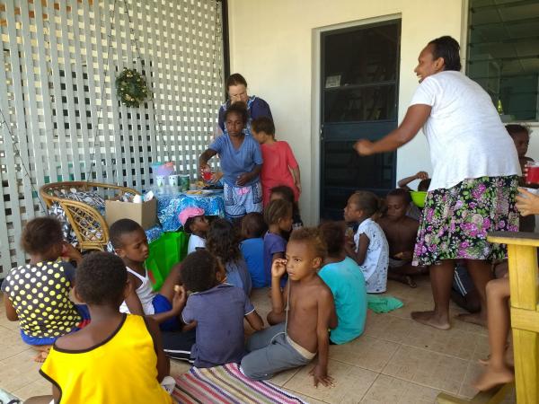
<path fill-rule="evenodd" d="M 328 372 L 335 386 L 315 388 L 313 377 L 309 374 L 311 367 L 305 366 L 284 387 L 328 403 L 357 403 L 363 398 L 377 376 L 377 373 L 367 369 L 330 360 Z"/>

